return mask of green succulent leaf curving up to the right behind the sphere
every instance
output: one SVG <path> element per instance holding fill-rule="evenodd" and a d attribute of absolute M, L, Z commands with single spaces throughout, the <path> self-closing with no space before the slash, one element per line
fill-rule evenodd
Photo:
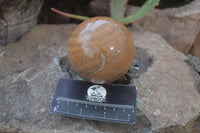
<path fill-rule="evenodd" d="M 123 24 L 132 23 L 135 20 L 138 20 L 145 16 L 149 11 L 151 11 L 156 5 L 158 5 L 159 0 L 147 0 L 140 9 L 138 9 L 132 15 L 129 15 L 125 18 L 119 19 Z"/>

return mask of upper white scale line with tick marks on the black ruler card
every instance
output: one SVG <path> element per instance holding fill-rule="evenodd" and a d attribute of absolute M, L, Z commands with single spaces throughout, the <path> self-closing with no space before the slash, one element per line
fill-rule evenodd
<path fill-rule="evenodd" d="M 67 104 L 69 104 L 69 102 L 86 104 L 86 107 L 87 107 L 87 105 L 103 106 L 104 110 L 106 110 L 106 107 L 114 108 L 114 110 L 115 110 L 115 108 L 123 108 L 123 111 L 124 111 L 124 108 L 134 110 L 134 106 L 131 106 L 131 105 L 97 103 L 97 102 L 82 101 L 82 100 L 63 98 L 63 97 L 58 97 L 56 100 L 58 102 L 65 101 L 65 102 L 67 102 Z M 77 106 L 77 104 L 76 104 L 76 106 Z"/>

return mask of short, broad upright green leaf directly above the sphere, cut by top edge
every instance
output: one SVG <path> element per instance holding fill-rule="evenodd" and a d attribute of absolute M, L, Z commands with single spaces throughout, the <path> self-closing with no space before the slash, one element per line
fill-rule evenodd
<path fill-rule="evenodd" d="M 111 17 L 116 20 L 123 18 L 126 3 L 127 3 L 127 0 L 111 0 L 110 1 Z"/>

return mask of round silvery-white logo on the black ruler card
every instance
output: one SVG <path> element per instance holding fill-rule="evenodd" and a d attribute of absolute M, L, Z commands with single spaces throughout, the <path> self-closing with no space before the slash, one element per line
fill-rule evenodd
<path fill-rule="evenodd" d="M 92 102 L 105 102 L 106 95 L 106 88 L 101 85 L 93 85 L 88 88 L 86 99 Z"/>

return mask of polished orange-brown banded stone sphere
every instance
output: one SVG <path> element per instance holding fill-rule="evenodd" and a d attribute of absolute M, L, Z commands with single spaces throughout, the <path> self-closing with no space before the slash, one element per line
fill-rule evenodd
<path fill-rule="evenodd" d="M 121 78 L 134 58 L 131 33 L 109 17 L 82 22 L 68 42 L 68 58 L 75 72 L 85 80 L 103 84 Z"/>

